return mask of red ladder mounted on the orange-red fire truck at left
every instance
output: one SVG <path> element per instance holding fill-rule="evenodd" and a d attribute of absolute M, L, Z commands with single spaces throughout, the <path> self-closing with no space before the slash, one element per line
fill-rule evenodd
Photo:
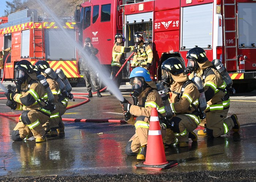
<path fill-rule="evenodd" d="M 44 25 L 43 25 L 43 21 L 41 22 L 41 27 L 42 28 L 39 28 L 40 26 L 38 28 L 35 28 L 34 16 L 33 16 L 33 26 L 34 26 L 34 28 L 33 28 L 33 35 L 34 35 L 34 39 L 33 39 L 34 40 L 34 59 L 45 59 L 44 58 L 44 39 L 43 39 Z M 39 32 L 39 33 L 37 33 L 37 35 L 35 35 L 35 32 Z M 40 33 L 41 33 L 41 35 L 40 35 Z M 37 50 L 41 50 L 41 51 L 37 51 Z M 42 56 L 41 57 L 35 57 L 35 53 L 36 52 L 41 52 Z"/>

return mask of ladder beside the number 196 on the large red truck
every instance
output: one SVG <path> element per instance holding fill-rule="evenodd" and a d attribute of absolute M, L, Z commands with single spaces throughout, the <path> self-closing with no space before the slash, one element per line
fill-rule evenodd
<path fill-rule="evenodd" d="M 227 68 L 228 61 L 236 61 L 237 64 L 237 13 L 236 13 L 236 0 L 234 4 L 226 3 L 230 0 L 223 2 L 223 29 L 224 29 L 224 50 L 225 50 L 225 67 Z M 234 10 L 234 11 L 232 11 Z M 227 13 L 227 11 L 232 13 Z M 233 14 L 234 12 L 234 14 Z M 235 55 L 234 55 L 235 53 Z M 236 68 L 236 70 L 238 67 Z M 238 70 L 237 70 L 238 71 Z"/>

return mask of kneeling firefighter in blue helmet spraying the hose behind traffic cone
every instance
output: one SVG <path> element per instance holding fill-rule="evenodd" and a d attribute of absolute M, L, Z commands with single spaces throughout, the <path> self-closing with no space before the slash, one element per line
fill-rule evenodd
<path fill-rule="evenodd" d="M 124 100 L 121 105 L 123 106 L 125 121 L 135 125 L 136 131 L 127 143 L 125 153 L 129 156 L 137 155 L 137 159 L 144 160 L 146 157 L 151 110 L 155 107 L 161 115 L 165 116 L 165 107 L 157 91 L 157 86 L 145 68 L 134 68 L 129 79 L 132 84 L 131 96 L 136 101 L 131 104 Z M 136 120 L 134 120 L 134 117 L 137 117 Z M 161 133 L 162 138 L 164 138 L 166 125 L 163 123 L 161 123 Z"/>

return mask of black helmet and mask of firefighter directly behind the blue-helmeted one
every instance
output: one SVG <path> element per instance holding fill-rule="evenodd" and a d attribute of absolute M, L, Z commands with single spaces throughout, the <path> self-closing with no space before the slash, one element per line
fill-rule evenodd
<path fill-rule="evenodd" d="M 165 60 L 161 66 L 162 70 L 162 82 L 166 84 L 167 87 L 170 86 L 172 82 L 172 75 L 178 75 L 185 70 L 182 58 L 173 57 Z"/>

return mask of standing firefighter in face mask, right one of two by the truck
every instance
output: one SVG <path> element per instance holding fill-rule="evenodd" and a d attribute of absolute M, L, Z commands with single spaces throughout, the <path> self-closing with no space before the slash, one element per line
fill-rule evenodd
<path fill-rule="evenodd" d="M 144 43 L 144 38 L 142 33 L 136 32 L 134 34 L 134 42 L 135 42 L 135 52 L 136 55 L 133 56 L 131 67 L 143 67 L 147 70 L 150 70 L 153 52 L 149 44 Z"/>

